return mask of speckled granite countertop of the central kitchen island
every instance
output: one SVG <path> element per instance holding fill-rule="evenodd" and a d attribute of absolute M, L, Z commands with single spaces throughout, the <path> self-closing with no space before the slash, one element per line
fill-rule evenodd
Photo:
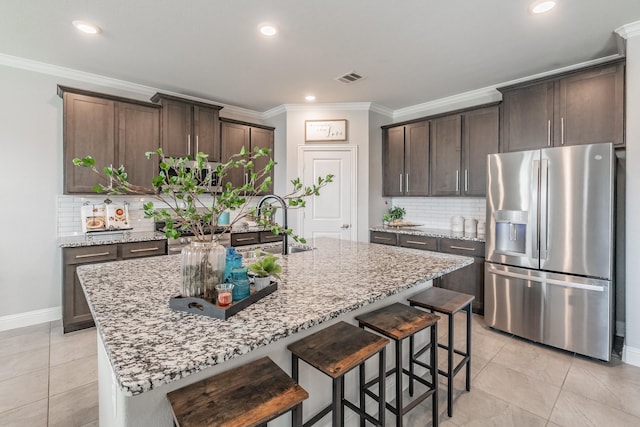
<path fill-rule="evenodd" d="M 117 382 L 137 395 L 469 265 L 472 258 L 318 238 L 281 257 L 278 290 L 228 320 L 169 308 L 180 256 L 78 267 Z"/>

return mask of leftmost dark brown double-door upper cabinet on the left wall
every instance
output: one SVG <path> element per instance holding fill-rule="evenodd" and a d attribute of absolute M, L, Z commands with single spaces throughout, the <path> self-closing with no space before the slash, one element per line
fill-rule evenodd
<path fill-rule="evenodd" d="M 75 157 L 87 155 L 98 168 L 125 166 L 129 182 L 149 188 L 158 163 L 144 154 L 160 147 L 160 107 L 65 86 L 58 86 L 58 95 L 64 111 L 64 193 L 94 193 L 98 176 L 73 165 Z"/>

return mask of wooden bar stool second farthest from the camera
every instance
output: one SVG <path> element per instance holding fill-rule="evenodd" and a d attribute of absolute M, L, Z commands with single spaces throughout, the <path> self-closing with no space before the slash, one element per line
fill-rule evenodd
<path fill-rule="evenodd" d="M 395 341 L 396 351 L 396 366 L 390 369 L 385 374 L 387 376 L 395 373 L 396 382 L 396 405 L 393 406 L 390 403 L 386 403 L 387 409 L 389 409 L 396 416 L 396 426 L 402 426 L 403 416 L 411 409 L 415 408 L 422 401 L 429 396 L 432 397 L 432 424 L 438 425 L 438 373 L 436 368 L 438 366 L 438 351 L 434 345 L 430 354 L 430 363 L 421 364 L 421 366 L 427 366 L 429 369 L 430 380 L 422 378 L 416 375 L 414 372 L 414 363 L 417 362 L 417 356 L 414 353 L 414 336 L 417 332 L 424 329 L 430 329 L 430 343 L 437 342 L 438 337 L 438 319 L 440 317 L 435 314 L 425 313 L 417 308 L 409 307 L 401 303 L 391 304 L 383 307 L 379 310 L 371 311 L 369 313 L 356 316 L 356 320 L 359 322 L 361 328 L 370 328 L 388 338 Z M 409 369 L 402 367 L 402 341 L 405 338 L 409 338 Z M 427 346 L 429 346 L 428 344 Z M 423 348 L 424 350 L 424 348 Z M 424 351 L 422 351 L 424 353 Z M 421 353 L 421 354 L 422 354 Z M 417 396 L 410 403 L 404 404 L 402 398 L 402 379 L 403 374 L 409 376 L 409 395 L 413 397 L 413 381 L 418 381 L 427 387 L 427 390 L 421 395 Z M 373 395 L 368 389 L 374 381 L 369 382 L 367 385 L 367 394 Z"/>

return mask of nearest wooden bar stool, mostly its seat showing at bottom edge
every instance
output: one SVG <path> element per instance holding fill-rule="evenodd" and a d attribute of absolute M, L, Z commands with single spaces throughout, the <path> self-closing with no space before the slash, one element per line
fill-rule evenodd
<path fill-rule="evenodd" d="M 291 411 L 302 425 L 307 392 L 268 357 L 167 393 L 178 427 L 253 427 Z"/>

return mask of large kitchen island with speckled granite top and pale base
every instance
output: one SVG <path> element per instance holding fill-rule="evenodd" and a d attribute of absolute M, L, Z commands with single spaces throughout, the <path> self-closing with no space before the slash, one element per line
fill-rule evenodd
<path fill-rule="evenodd" d="M 171 426 L 169 391 L 262 356 L 290 372 L 289 343 L 404 301 L 432 279 L 472 262 L 330 238 L 312 245 L 313 251 L 282 257 L 276 292 L 226 321 L 169 308 L 179 293 L 179 256 L 79 267 L 98 328 L 100 425 Z M 331 389 L 312 371 L 301 372 L 310 394 L 306 415 L 329 400 Z M 288 421 L 284 416 L 271 425 Z"/>

